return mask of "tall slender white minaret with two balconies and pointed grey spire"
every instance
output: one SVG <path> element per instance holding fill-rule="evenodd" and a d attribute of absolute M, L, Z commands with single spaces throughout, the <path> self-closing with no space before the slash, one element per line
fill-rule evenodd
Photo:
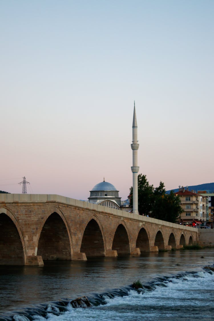
<path fill-rule="evenodd" d="M 135 102 L 134 102 L 134 114 L 133 114 L 133 124 L 132 124 L 132 158 L 133 158 L 133 166 L 131 167 L 133 172 L 133 213 L 138 213 L 138 171 L 139 166 L 137 166 L 137 150 L 139 148 L 138 140 L 137 140 L 137 119 L 135 112 Z"/>

